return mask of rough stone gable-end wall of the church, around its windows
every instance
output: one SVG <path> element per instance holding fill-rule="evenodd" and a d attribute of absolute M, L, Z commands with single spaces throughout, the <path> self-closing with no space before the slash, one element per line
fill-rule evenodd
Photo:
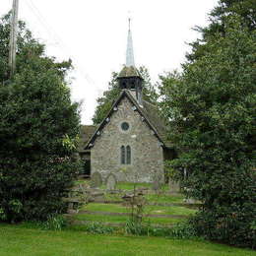
<path fill-rule="evenodd" d="M 91 150 L 92 174 L 98 171 L 103 180 L 114 173 L 118 181 L 152 182 L 158 179 L 163 182 L 160 142 L 132 106 L 124 97 L 97 136 Z M 121 129 L 124 121 L 130 125 L 127 131 Z M 128 145 L 131 147 L 131 164 L 121 164 L 121 146 Z"/>

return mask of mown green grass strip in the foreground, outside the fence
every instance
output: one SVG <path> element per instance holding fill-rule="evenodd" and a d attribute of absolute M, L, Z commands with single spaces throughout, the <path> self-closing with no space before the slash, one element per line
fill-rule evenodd
<path fill-rule="evenodd" d="M 206 241 L 44 231 L 0 224 L 0 256 L 255 256 Z"/>

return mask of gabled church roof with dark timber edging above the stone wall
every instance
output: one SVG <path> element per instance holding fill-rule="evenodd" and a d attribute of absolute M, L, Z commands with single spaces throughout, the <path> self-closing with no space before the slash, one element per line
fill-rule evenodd
<path fill-rule="evenodd" d="M 104 120 L 97 126 L 94 134 L 92 135 L 90 140 L 87 142 L 85 150 L 90 149 L 90 147 L 94 144 L 97 134 L 107 124 L 107 122 L 109 121 L 108 118 L 110 118 L 113 111 L 115 110 L 114 108 L 119 104 L 119 102 L 124 96 L 127 96 L 130 102 L 136 107 L 136 111 L 138 111 L 141 114 L 141 116 L 145 118 L 145 122 L 154 131 L 154 135 L 159 139 L 160 144 L 163 147 L 171 148 L 170 143 L 166 140 L 166 126 L 162 121 L 162 118 L 160 118 L 160 112 L 158 108 L 154 104 L 146 100 L 143 101 L 143 107 L 142 107 L 139 105 L 137 100 L 133 96 L 131 96 L 128 90 L 122 90 L 120 96 L 118 96 L 116 101 L 113 103 L 111 109 L 108 111 Z"/>

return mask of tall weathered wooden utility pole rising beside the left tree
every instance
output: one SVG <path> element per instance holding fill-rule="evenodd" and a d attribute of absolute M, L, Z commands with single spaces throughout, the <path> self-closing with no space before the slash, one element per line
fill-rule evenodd
<path fill-rule="evenodd" d="M 10 72 L 11 78 L 13 77 L 16 69 L 18 9 L 19 9 L 19 0 L 13 0 L 11 34 L 10 34 L 10 52 L 9 52 L 9 66 L 11 70 Z"/>

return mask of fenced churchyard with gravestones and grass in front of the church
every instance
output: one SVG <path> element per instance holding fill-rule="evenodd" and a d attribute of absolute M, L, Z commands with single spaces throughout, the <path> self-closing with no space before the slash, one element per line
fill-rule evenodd
<path fill-rule="evenodd" d="M 100 177 L 93 177 L 91 181 L 78 180 L 73 190 L 83 191 L 84 197 L 82 201 L 77 198 L 77 205 L 70 205 L 67 218 L 74 225 L 99 222 L 121 228 L 139 215 L 142 224 L 171 227 L 200 207 L 199 202 L 190 202 L 169 184 L 116 182 L 115 179 L 102 183 Z M 72 196 L 71 201 L 76 203 Z"/>

